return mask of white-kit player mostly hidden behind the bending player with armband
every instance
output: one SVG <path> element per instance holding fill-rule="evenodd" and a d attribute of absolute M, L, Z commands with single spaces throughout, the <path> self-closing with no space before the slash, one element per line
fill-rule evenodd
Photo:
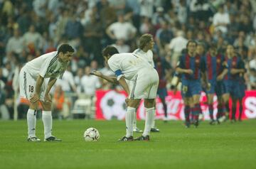
<path fill-rule="evenodd" d="M 146 33 L 139 38 L 139 48 L 134 50 L 133 53 L 137 54 L 139 57 L 144 58 L 144 60 L 149 62 L 149 64 L 152 67 L 154 67 L 153 52 L 152 52 L 153 48 L 154 48 L 153 37 L 151 36 L 151 34 Z M 132 83 L 133 82 L 128 82 L 128 84 L 132 84 Z M 136 112 L 134 116 L 133 131 L 138 133 L 142 132 L 139 128 L 137 128 Z M 159 132 L 159 129 L 157 129 L 155 126 L 155 121 L 151 126 L 151 132 Z"/>

